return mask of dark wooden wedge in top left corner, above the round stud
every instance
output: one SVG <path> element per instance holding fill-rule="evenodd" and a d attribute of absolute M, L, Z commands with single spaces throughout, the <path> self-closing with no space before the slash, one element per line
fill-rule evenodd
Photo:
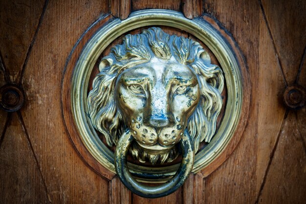
<path fill-rule="evenodd" d="M 11 83 L 18 83 L 43 7 L 42 0 L 0 1 L 0 52 Z"/>

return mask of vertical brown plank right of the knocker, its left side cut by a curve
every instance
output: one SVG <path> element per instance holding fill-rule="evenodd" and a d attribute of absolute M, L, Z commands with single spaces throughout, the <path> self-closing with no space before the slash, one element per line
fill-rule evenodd
<path fill-rule="evenodd" d="M 205 179 L 205 203 L 254 203 L 258 130 L 259 11 L 257 1 L 207 0 L 204 9 L 220 21 L 240 47 L 251 81 L 248 124 L 239 145 L 215 172 Z M 202 172 L 205 175 L 205 172 Z"/>

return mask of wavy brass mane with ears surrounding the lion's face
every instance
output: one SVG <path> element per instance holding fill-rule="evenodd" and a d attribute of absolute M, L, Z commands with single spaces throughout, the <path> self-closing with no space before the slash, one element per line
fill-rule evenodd
<path fill-rule="evenodd" d="M 201 97 L 186 127 L 197 152 L 200 142 L 210 142 L 216 131 L 217 117 L 222 108 L 222 70 L 211 64 L 208 52 L 199 43 L 169 35 L 161 28 L 152 27 L 141 34 L 126 35 L 122 44 L 112 47 L 109 55 L 101 60 L 100 73 L 93 80 L 93 89 L 87 98 L 90 120 L 94 128 L 105 136 L 109 146 L 116 145 L 127 128 L 114 100 L 116 80 L 124 70 L 147 63 L 153 57 L 163 60 L 174 57 L 177 63 L 188 66 L 197 75 Z"/>

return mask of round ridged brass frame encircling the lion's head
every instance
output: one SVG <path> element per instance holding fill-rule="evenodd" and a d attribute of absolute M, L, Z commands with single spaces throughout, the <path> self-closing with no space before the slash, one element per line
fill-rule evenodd
<path fill-rule="evenodd" d="M 213 52 L 223 70 L 227 88 L 224 117 L 211 142 L 196 154 L 192 171 L 197 172 L 218 158 L 231 140 L 240 120 L 243 98 L 240 66 L 231 46 L 203 19 L 190 20 L 176 11 L 150 9 L 133 12 L 126 20 L 115 19 L 101 27 L 83 48 L 73 71 L 70 97 L 75 124 L 90 154 L 115 173 L 114 153 L 101 141 L 87 116 L 87 88 L 94 65 L 106 47 L 121 35 L 144 26 L 169 26 L 194 35 Z M 138 181 L 167 181 L 175 175 L 179 164 L 149 168 L 128 162 L 128 167 Z M 150 178 L 143 176 L 149 174 Z"/>

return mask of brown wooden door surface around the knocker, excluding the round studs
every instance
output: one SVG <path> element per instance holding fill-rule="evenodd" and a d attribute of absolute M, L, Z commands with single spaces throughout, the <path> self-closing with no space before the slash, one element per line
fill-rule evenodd
<path fill-rule="evenodd" d="M 251 82 L 248 123 L 233 153 L 159 199 L 93 171 L 69 140 L 61 105 L 66 60 L 86 29 L 109 13 L 125 19 L 148 8 L 219 21 Z M 303 0 L 1 0 L 0 86 L 18 85 L 25 102 L 14 113 L 0 110 L 0 203 L 305 203 L 306 108 L 283 101 L 287 87 L 306 88 L 305 10 Z"/>

